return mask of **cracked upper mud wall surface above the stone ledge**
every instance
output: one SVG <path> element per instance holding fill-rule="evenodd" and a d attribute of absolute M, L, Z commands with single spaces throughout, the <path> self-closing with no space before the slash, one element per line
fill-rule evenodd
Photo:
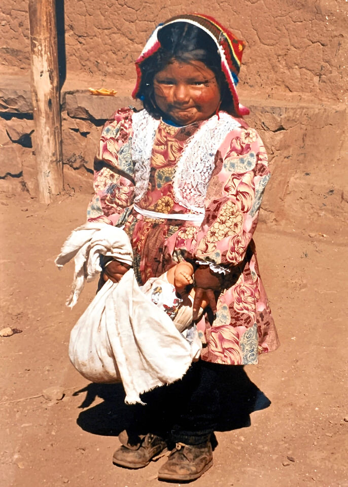
<path fill-rule="evenodd" d="M 27 2 L 3 4 L 3 69 L 28 71 Z M 200 11 L 246 40 L 243 92 L 310 93 L 338 101 L 347 95 L 342 86 L 348 75 L 345 0 L 65 0 L 64 9 L 69 76 L 133 79 L 133 61 L 155 25 L 183 11 Z"/>

